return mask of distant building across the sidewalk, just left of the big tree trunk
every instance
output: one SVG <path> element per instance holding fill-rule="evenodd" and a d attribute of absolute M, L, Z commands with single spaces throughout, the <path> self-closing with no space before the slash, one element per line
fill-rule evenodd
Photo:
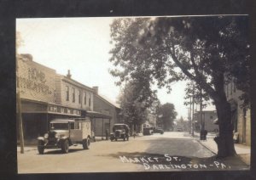
<path fill-rule="evenodd" d="M 215 110 L 203 110 L 202 112 L 195 111 L 195 131 L 200 132 L 201 129 L 205 129 L 207 132 L 218 132 L 218 125 L 214 122 L 216 119 L 217 112 Z"/>

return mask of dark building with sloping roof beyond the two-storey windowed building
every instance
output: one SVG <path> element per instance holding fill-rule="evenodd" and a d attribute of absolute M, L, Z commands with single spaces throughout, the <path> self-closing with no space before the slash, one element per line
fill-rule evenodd
<path fill-rule="evenodd" d="M 98 87 L 93 88 L 93 109 L 97 112 L 101 112 L 104 115 L 111 116 L 111 119 L 101 118 L 102 121 L 95 119 L 92 124 L 96 136 L 105 136 L 106 130 L 108 130 L 108 133 L 112 132 L 113 124 L 120 122 L 120 106 L 119 104 L 112 102 L 112 100 L 108 99 L 107 97 L 100 95 L 98 93 Z"/>

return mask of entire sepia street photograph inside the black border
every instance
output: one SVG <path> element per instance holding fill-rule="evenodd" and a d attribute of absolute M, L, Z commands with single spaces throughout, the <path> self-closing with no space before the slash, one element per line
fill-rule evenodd
<path fill-rule="evenodd" d="M 15 27 L 18 174 L 250 170 L 247 14 Z"/>

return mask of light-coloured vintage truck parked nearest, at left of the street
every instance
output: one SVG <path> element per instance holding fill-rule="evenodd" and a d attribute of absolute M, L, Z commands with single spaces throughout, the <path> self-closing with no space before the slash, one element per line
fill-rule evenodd
<path fill-rule="evenodd" d="M 69 146 L 78 143 L 89 149 L 90 125 L 90 121 L 84 118 L 50 121 L 49 132 L 44 137 L 38 137 L 38 153 L 43 155 L 44 149 L 61 149 L 63 153 L 68 153 Z"/>

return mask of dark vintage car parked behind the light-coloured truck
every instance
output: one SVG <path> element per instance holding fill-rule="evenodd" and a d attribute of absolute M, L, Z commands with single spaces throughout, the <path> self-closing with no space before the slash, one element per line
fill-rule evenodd
<path fill-rule="evenodd" d="M 124 141 L 125 139 L 129 141 L 129 127 L 126 124 L 114 124 L 113 125 L 113 132 L 110 133 L 110 140 L 117 141 L 119 138 L 122 138 Z"/>

